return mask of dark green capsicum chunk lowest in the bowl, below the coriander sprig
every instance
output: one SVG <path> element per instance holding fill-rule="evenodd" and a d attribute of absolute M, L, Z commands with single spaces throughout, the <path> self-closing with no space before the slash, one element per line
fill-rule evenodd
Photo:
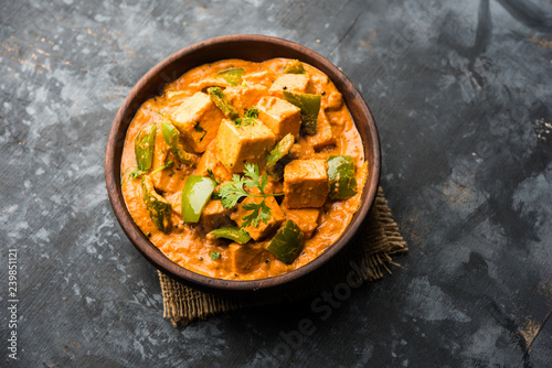
<path fill-rule="evenodd" d="M 286 264 L 291 264 L 305 247 L 305 235 L 297 224 L 288 219 L 270 240 L 266 250 Z"/>

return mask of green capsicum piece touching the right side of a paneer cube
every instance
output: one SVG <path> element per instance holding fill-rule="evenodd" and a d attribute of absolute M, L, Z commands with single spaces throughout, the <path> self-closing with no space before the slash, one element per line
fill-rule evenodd
<path fill-rule="evenodd" d="M 350 155 L 331 155 L 328 162 L 329 197 L 347 199 L 357 194 L 354 160 Z"/>

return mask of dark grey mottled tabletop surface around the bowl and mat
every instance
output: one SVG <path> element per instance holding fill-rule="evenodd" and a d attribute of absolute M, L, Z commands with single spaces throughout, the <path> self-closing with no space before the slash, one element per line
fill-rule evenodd
<path fill-rule="evenodd" d="M 1 9 L 2 367 L 552 365 L 550 1 Z M 343 301 L 173 328 L 153 268 L 110 210 L 105 142 L 149 68 L 233 33 L 304 44 L 357 83 L 379 125 L 381 185 L 411 251 L 397 260 L 403 269 Z M 17 362 L 6 354 L 8 248 L 19 255 Z"/>

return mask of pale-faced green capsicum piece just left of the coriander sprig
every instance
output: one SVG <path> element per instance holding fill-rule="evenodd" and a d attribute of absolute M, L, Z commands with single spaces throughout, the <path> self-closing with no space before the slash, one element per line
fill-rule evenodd
<path fill-rule="evenodd" d="M 182 219 L 185 223 L 198 223 L 201 213 L 211 198 L 216 182 L 210 177 L 190 175 L 182 190 Z"/>

